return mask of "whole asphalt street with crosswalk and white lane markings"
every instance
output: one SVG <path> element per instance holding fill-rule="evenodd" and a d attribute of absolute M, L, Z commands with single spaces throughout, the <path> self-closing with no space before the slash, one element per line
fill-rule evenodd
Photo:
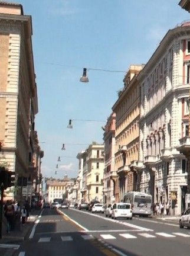
<path fill-rule="evenodd" d="M 179 229 L 177 218 L 112 220 L 86 210 L 44 209 L 38 220 L 14 255 L 188 256 L 190 251 L 190 231 Z"/>

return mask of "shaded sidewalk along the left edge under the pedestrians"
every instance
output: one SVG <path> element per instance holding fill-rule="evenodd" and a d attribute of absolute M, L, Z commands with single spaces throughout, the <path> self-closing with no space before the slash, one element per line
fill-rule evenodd
<path fill-rule="evenodd" d="M 22 223 L 17 223 L 15 225 L 14 231 L 6 233 L 6 220 L 4 219 L 2 227 L 2 239 L 0 239 L 0 255 L 12 255 L 15 249 L 18 248 L 20 242 L 22 242 L 29 234 L 32 229 L 32 226 L 40 215 L 40 210 L 32 209 L 30 217 L 28 218 L 25 225 Z"/>

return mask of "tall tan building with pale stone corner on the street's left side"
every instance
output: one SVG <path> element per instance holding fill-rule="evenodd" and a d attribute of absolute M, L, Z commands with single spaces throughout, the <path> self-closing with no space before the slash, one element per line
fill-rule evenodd
<path fill-rule="evenodd" d="M 16 180 L 32 181 L 38 99 L 31 37 L 31 16 L 24 15 L 22 5 L 0 2 L 0 163 L 15 171 Z M 11 190 L 18 200 L 19 190 Z"/>

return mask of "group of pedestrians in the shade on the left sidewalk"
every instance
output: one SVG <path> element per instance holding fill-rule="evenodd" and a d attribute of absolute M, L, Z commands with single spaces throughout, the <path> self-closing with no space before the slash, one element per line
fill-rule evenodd
<path fill-rule="evenodd" d="M 25 224 L 30 216 L 30 203 L 25 201 L 25 204 L 21 205 L 15 201 L 8 200 L 4 205 L 4 216 L 6 218 L 6 232 L 14 231 L 16 223 L 22 222 Z"/>

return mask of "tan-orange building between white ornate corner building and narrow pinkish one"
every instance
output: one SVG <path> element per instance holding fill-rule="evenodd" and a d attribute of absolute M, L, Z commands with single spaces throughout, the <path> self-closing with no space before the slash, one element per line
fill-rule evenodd
<path fill-rule="evenodd" d="M 116 201 L 127 191 L 137 190 L 136 163 L 139 153 L 140 97 L 136 76 L 144 65 L 131 65 L 123 79 L 125 87 L 112 110 L 116 113 L 115 170 L 118 174 Z"/>

